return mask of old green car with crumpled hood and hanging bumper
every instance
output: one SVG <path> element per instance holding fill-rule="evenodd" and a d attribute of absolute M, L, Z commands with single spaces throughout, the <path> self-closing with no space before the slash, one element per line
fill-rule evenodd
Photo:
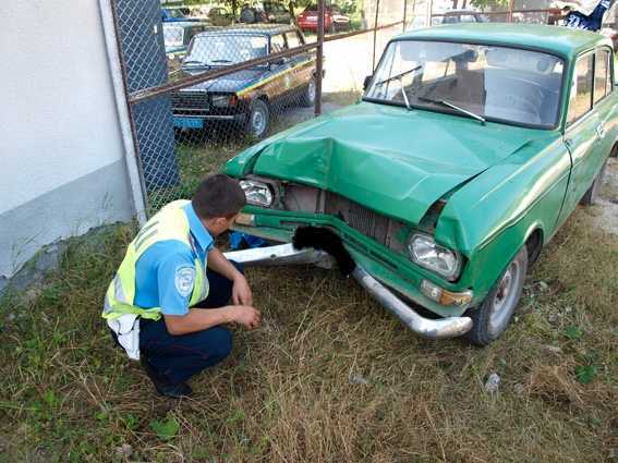
<path fill-rule="evenodd" d="M 596 197 L 618 146 L 613 66 L 609 39 L 557 26 L 400 35 L 362 101 L 227 163 L 249 203 L 237 230 L 287 243 L 317 232 L 314 248 L 228 257 L 325 264 L 327 251 L 341 265 L 342 245 L 351 275 L 413 331 L 487 344 L 543 247 Z"/>

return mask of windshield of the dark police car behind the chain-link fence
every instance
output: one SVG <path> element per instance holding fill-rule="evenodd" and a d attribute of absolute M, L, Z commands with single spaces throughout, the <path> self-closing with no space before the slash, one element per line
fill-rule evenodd
<path fill-rule="evenodd" d="M 268 39 L 252 35 L 206 35 L 194 37 L 185 62 L 228 65 L 265 57 Z"/>

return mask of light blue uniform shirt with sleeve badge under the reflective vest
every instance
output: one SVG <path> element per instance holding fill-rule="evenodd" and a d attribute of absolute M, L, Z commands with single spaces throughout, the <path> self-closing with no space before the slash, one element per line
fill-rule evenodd
<path fill-rule="evenodd" d="M 177 240 L 159 241 L 148 247 L 135 265 L 134 303 L 137 307 L 161 307 L 163 315 L 185 315 L 189 312 L 195 282 L 195 258 L 199 257 L 206 268 L 213 236 L 191 203 L 183 210 L 189 219 L 195 251 Z"/>

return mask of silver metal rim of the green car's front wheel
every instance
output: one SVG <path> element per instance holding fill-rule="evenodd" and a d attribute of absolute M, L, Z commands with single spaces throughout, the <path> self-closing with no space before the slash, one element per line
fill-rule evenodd
<path fill-rule="evenodd" d="M 519 260 L 513 260 L 500 279 L 489 312 L 489 333 L 494 337 L 501 333 L 519 301 L 519 288 L 523 278 Z"/>

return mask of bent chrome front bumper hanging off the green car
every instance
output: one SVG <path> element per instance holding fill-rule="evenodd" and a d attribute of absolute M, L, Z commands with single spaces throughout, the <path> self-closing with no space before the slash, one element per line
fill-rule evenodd
<path fill-rule="evenodd" d="M 292 244 L 233 251 L 226 253 L 226 257 L 247 266 L 314 264 L 329 267 L 331 265 L 331 257 L 327 253 L 313 248 L 296 249 Z M 352 271 L 352 276 L 377 302 L 393 313 L 408 328 L 423 338 L 456 338 L 466 333 L 472 328 L 472 319 L 470 317 L 447 317 L 440 319 L 422 317 L 358 263 Z"/>

